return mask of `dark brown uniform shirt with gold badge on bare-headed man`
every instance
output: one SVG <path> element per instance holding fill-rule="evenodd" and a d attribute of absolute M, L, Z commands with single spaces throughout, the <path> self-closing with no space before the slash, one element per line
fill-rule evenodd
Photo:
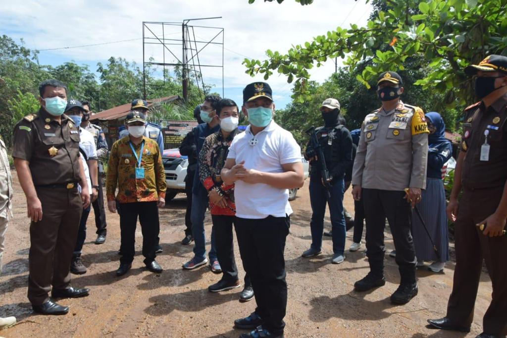
<path fill-rule="evenodd" d="M 37 186 L 79 182 L 79 130 L 66 115 L 61 123 L 43 108 L 14 127 L 12 157 L 29 162 Z"/>

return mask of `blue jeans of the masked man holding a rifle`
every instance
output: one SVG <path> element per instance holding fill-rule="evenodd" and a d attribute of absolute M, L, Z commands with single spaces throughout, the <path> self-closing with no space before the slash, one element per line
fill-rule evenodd
<path fill-rule="evenodd" d="M 329 201 L 325 196 L 325 187 L 320 177 L 310 178 L 310 204 L 312 207 L 312 220 L 310 230 L 312 233 L 312 249 L 322 248 L 322 232 L 324 230 L 325 205 L 329 205 L 331 215 L 331 229 L 333 231 L 333 253 L 343 255 L 345 250 L 345 217 L 343 216 L 343 179 L 337 180 L 330 189 Z"/>

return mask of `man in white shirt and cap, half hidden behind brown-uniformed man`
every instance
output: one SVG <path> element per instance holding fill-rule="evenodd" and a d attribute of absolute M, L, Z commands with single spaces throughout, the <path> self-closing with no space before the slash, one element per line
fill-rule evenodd
<path fill-rule="evenodd" d="M 85 109 L 81 102 L 76 99 L 69 99 L 65 114 L 74 121 L 76 127 L 79 127 L 79 152 L 83 161 L 83 168 L 88 182 L 88 191 L 92 192 L 91 201 L 94 202 L 98 196 L 98 166 L 97 166 L 97 147 L 95 139 L 91 132 L 81 127 L 81 121 Z M 72 261 L 70 263 L 70 272 L 75 275 L 86 274 L 86 266 L 81 260 L 81 253 L 86 239 L 86 222 L 90 214 L 91 207 L 83 209 L 81 220 L 79 223 L 78 238 Z"/>

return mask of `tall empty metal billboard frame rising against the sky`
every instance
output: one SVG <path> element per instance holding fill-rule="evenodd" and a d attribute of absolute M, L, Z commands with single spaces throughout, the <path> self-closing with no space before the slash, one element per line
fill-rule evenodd
<path fill-rule="evenodd" d="M 182 97 L 188 100 L 189 81 L 194 81 L 201 93 L 205 91 L 204 80 L 202 76 L 203 67 L 222 68 L 222 96 L 224 95 L 224 28 L 211 26 L 189 25 L 190 21 L 220 19 L 222 17 L 185 19 L 183 22 L 142 22 L 142 75 L 143 75 L 143 95 L 146 99 L 146 88 L 152 84 L 147 83 L 146 67 L 162 67 L 164 82 L 166 81 L 167 67 L 181 67 L 182 70 Z M 169 33 L 175 27 L 181 29 L 181 38 L 174 39 L 171 36 L 175 32 Z M 211 31 L 214 36 L 207 39 L 196 39 L 196 30 L 202 29 Z M 215 34 L 216 32 L 216 34 Z M 146 49 L 151 45 L 158 45 L 162 48 L 156 56 L 150 55 L 147 59 Z M 200 55 L 209 45 L 222 47 L 222 57 L 220 62 L 206 62 L 201 64 Z M 179 47 L 179 48 L 178 48 Z M 155 46 L 155 48 L 157 48 Z M 180 54 L 178 57 L 176 55 Z"/>

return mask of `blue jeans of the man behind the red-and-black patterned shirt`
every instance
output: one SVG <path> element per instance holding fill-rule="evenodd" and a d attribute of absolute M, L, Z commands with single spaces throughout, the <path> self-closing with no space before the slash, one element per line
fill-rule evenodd
<path fill-rule="evenodd" d="M 192 195 L 192 235 L 194 236 L 194 255 L 198 261 L 206 258 L 206 234 L 204 232 L 204 216 L 208 207 L 208 196 L 204 193 L 194 193 Z M 209 251 L 209 260 L 216 259 L 215 250 L 215 232 L 211 228 L 211 250 Z"/>

